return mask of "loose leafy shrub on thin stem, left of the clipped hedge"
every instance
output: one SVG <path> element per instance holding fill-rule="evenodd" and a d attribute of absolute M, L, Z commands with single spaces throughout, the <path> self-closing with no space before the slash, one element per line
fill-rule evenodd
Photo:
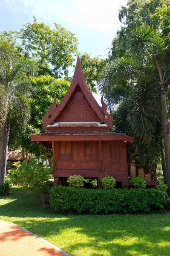
<path fill-rule="evenodd" d="M 49 174 L 51 172 L 52 168 L 32 159 L 29 164 L 27 164 L 27 161 L 23 161 L 17 169 L 9 170 L 9 177 L 14 185 L 20 184 L 20 186 L 32 190 L 44 205 L 41 193 L 46 191 L 46 187 L 50 183 Z"/>

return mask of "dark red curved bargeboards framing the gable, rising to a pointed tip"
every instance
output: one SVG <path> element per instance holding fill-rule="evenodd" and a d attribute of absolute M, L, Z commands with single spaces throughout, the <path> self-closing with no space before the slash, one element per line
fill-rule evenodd
<path fill-rule="evenodd" d="M 90 92 L 89 87 L 87 86 L 84 79 L 79 57 L 77 59 L 72 83 L 67 93 L 65 94 L 57 108 L 55 107 L 57 103 L 57 99 L 55 98 L 55 101 L 49 108 L 48 113 L 46 113 L 46 115 L 42 117 L 43 129 L 48 129 L 47 125 L 55 124 L 55 122 L 58 121 L 58 117 L 61 116 L 64 109 L 66 109 L 66 106 L 68 105 L 69 100 L 72 99 L 77 87 L 80 87 L 84 97 L 86 98 L 86 101 L 88 102 L 88 105 L 90 106 L 92 111 L 94 111 L 96 116 L 98 116 L 101 123 L 106 124 L 110 129 L 112 129 L 113 117 L 107 112 L 107 105 L 104 103 L 103 96 L 101 97 L 101 107 L 100 105 L 98 105 L 98 102 L 95 100 L 94 96 Z M 52 115 L 51 118 L 49 118 L 50 114 Z"/>

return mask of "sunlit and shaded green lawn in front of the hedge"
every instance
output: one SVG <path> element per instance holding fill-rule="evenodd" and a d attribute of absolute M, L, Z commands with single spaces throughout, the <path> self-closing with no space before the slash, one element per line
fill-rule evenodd
<path fill-rule="evenodd" d="M 170 256 L 170 213 L 58 215 L 21 187 L 0 197 L 0 219 L 72 256 Z"/>

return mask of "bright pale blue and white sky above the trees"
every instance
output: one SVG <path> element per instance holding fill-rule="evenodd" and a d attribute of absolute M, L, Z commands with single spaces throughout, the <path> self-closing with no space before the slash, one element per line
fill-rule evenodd
<path fill-rule="evenodd" d="M 107 58 L 121 28 L 118 10 L 126 4 L 127 0 L 0 0 L 0 31 L 19 30 L 35 16 L 51 28 L 55 22 L 73 32 L 79 52 Z M 99 103 L 99 93 L 94 96 Z"/>

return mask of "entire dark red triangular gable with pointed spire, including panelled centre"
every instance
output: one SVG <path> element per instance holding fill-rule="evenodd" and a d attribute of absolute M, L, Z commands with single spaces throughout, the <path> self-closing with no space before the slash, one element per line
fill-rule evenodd
<path fill-rule="evenodd" d="M 95 130 L 103 129 L 104 131 L 112 129 L 113 117 L 107 113 L 107 105 L 103 97 L 101 107 L 90 92 L 84 79 L 79 57 L 67 93 L 58 107 L 55 107 L 56 102 L 55 98 L 48 113 L 42 117 L 43 129 L 46 131 L 59 131 L 61 127 L 95 127 Z"/>

